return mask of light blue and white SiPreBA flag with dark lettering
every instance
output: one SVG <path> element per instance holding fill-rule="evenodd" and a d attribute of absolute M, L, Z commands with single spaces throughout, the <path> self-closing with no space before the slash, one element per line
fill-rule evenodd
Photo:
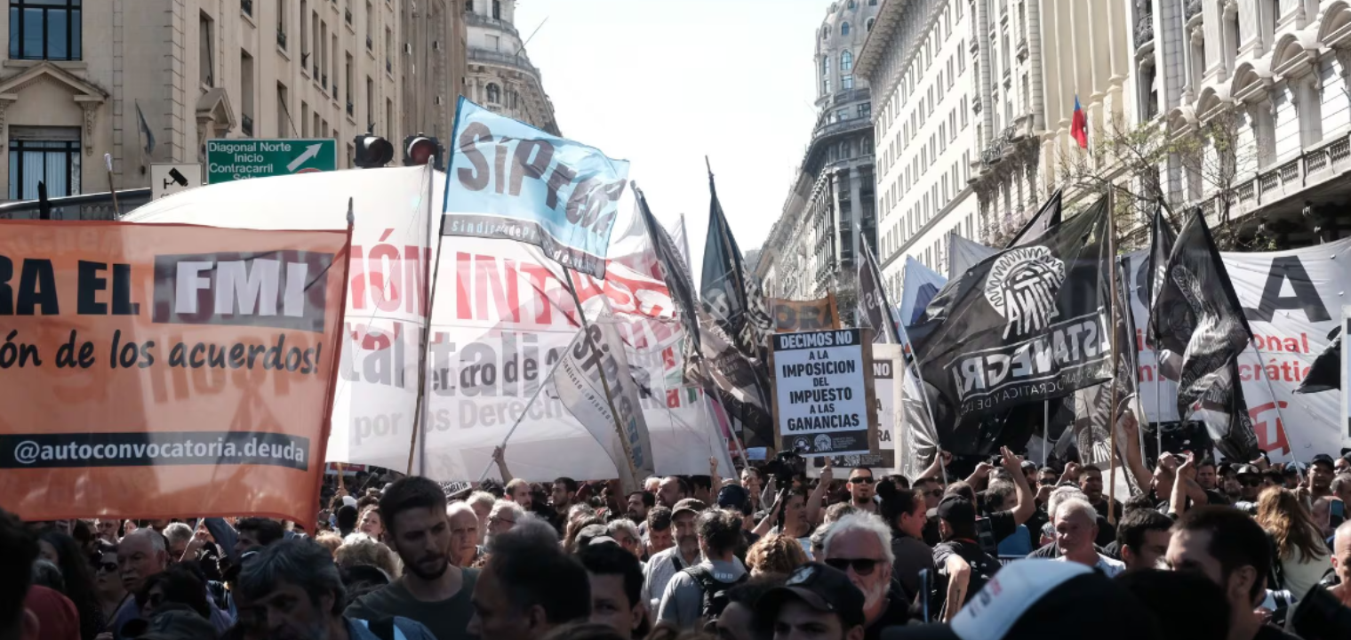
<path fill-rule="evenodd" d="M 605 251 L 628 162 L 461 97 L 440 232 L 534 244 L 588 275 Z"/>

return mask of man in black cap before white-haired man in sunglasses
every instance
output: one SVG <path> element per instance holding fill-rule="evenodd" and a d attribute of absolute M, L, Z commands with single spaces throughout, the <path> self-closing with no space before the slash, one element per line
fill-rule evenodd
<path fill-rule="evenodd" d="M 755 604 L 759 637 L 862 640 L 863 594 L 836 568 L 809 562 Z"/>

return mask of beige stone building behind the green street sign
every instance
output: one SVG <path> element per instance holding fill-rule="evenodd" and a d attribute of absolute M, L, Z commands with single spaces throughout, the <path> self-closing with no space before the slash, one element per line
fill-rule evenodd
<path fill-rule="evenodd" d="M 453 0 L 12 0 L 0 22 L 7 200 L 147 186 L 211 138 L 335 138 L 350 167 L 357 134 L 449 139 L 466 73 Z"/>

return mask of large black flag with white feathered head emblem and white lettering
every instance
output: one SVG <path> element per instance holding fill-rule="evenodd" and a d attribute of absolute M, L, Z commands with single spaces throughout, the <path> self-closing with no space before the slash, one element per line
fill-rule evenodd
<path fill-rule="evenodd" d="M 1112 377 L 1108 201 L 1000 251 L 939 292 L 915 340 L 924 381 L 954 417 L 944 451 L 988 454 L 1008 409 Z M 946 413 L 934 408 L 935 416 Z"/>

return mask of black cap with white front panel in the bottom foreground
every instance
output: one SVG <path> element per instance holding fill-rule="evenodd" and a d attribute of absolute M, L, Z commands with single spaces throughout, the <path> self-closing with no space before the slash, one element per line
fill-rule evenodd
<path fill-rule="evenodd" d="M 1163 637 L 1158 618 L 1125 587 L 1077 562 L 1017 560 L 1000 568 L 948 624 L 893 626 L 882 640 L 1044 640 Z"/>

